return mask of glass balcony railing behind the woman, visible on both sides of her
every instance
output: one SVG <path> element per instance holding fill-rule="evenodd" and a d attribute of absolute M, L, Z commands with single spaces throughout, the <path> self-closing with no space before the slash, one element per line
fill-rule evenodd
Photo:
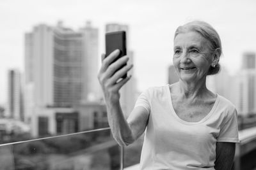
<path fill-rule="evenodd" d="M 256 167 L 256 127 L 239 131 L 234 170 Z M 125 148 L 109 128 L 0 145 L 3 170 L 138 170 L 143 138 Z"/>

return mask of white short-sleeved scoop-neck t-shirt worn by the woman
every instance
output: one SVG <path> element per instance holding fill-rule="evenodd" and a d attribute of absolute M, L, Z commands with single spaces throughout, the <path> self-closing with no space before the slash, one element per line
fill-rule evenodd
<path fill-rule="evenodd" d="M 149 114 L 140 169 L 214 169 L 216 142 L 239 142 L 237 111 L 217 95 L 211 111 L 199 122 L 186 122 L 172 106 L 169 85 L 150 87 L 134 107 Z"/>

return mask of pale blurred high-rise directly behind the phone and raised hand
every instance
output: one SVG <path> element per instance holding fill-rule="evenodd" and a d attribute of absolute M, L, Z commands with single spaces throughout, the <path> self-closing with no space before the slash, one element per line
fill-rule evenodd
<path fill-rule="evenodd" d="M 127 45 L 127 55 L 129 57 L 128 63 L 132 64 L 134 53 L 129 50 L 129 27 L 124 24 L 107 24 L 106 32 L 113 31 L 125 31 L 126 32 L 126 45 Z M 131 113 L 135 101 L 136 101 L 136 78 L 134 78 L 134 67 L 128 72 L 128 75 L 132 75 L 131 80 L 129 80 L 122 89 L 120 89 L 120 104 L 124 112 L 125 117 L 128 117 Z"/>

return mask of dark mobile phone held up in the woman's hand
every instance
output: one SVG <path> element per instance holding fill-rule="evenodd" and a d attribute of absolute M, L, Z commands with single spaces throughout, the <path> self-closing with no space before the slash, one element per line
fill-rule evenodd
<path fill-rule="evenodd" d="M 115 51 L 116 49 L 120 50 L 120 53 L 118 57 L 115 60 L 113 60 L 113 62 L 118 60 L 120 57 L 123 57 L 124 55 L 126 55 L 127 52 L 126 52 L 125 31 L 107 32 L 105 35 L 105 40 L 106 40 L 106 57 L 108 57 L 108 55 L 111 52 Z M 121 69 L 125 65 L 126 64 L 121 66 L 119 69 Z M 122 76 L 122 78 L 126 78 L 126 77 L 127 77 L 127 74 Z"/>

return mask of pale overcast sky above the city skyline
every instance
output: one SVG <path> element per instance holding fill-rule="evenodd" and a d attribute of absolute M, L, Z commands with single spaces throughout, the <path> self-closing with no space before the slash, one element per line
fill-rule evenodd
<path fill-rule="evenodd" d="M 138 90 L 164 85 L 172 64 L 173 34 L 179 25 L 204 20 L 220 34 L 220 64 L 230 74 L 241 67 L 244 52 L 256 52 L 256 1 L 253 0 L 0 0 L 0 104 L 7 99 L 7 71 L 24 71 L 24 34 L 38 24 L 74 30 L 87 20 L 99 28 L 99 54 L 104 53 L 104 26 L 129 25 Z M 100 56 L 99 56 L 100 58 Z"/>

